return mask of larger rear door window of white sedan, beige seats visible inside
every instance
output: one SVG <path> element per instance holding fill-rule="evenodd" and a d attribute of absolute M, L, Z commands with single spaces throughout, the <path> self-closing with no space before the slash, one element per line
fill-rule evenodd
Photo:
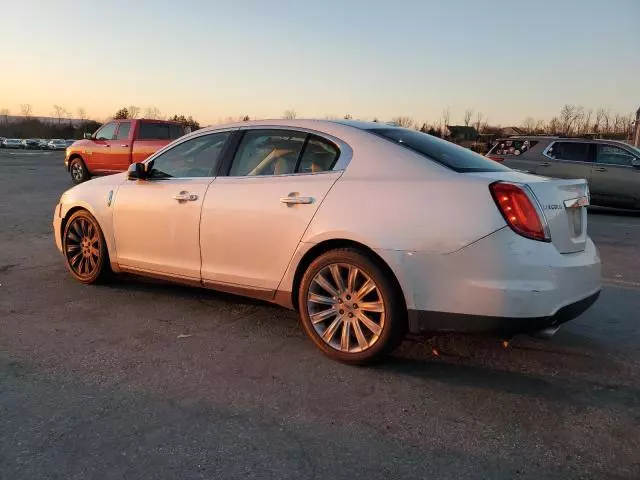
<path fill-rule="evenodd" d="M 289 130 L 248 130 L 231 165 L 230 176 L 295 173 L 307 134 Z"/>

